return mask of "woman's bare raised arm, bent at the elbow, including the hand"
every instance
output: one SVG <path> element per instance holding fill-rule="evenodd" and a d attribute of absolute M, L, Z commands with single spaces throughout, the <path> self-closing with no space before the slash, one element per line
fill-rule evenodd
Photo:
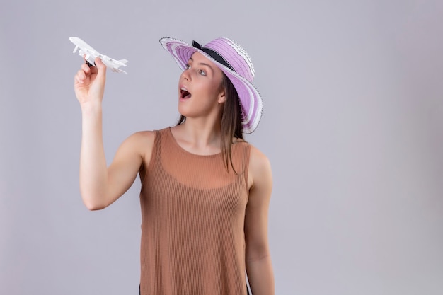
<path fill-rule="evenodd" d="M 90 210 L 103 209 L 115 202 L 134 183 L 146 158 L 142 146 L 153 142 L 154 134 L 139 132 L 128 137 L 107 168 L 102 135 L 102 100 L 106 66 L 82 64 L 74 77 L 74 90 L 81 106 L 80 192 Z"/>

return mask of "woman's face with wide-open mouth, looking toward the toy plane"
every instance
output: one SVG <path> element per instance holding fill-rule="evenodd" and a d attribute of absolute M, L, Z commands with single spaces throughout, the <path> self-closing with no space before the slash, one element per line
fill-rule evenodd
<path fill-rule="evenodd" d="M 199 52 L 192 54 L 178 82 L 178 110 L 185 117 L 218 115 L 225 100 L 223 73 Z"/>

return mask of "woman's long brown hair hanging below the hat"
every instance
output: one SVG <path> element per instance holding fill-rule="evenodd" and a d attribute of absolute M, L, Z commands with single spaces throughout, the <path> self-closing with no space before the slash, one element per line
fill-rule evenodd
<path fill-rule="evenodd" d="M 238 174 L 232 163 L 232 145 L 234 139 L 243 139 L 243 132 L 241 128 L 241 108 L 240 98 L 231 80 L 223 73 L 222 87 L 226 91 L 226 100 L 224 102 L 222 110 L 222 124 L 221 134 L 222 139 L 220 141 L 220 149 L 223 155 L 224 166 L 229 173 L 229 164 L 231 164 L 234 173 Z M 186 117 L 180 115 L 177 125 L 185 122 Z"/>

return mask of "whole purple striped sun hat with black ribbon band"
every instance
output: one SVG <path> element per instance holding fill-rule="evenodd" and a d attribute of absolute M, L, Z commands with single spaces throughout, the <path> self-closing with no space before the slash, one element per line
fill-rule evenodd
<path fill-rule="evenodd" d="M 241 104 L 243 132 L 252 133 L 257 128 L 263 112 L 263 100 L 251 83 L 254 78 L 251 58 L 240 45 L 228 38 L 217 38 L 205 46 L 195 41 L 189 45 L 171 37 L 161 38 L 160 43 L 176 59 L 182 70 L 185 70 L 194 52 L 200 52 L 214 62 L 236 88 Z"/>

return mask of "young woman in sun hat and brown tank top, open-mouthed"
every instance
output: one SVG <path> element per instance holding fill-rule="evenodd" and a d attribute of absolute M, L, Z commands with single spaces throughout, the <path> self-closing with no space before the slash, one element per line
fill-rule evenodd
<path fill-rule="evenodd" d="M 266 156 L 243 140 L 262 100 L 253 65 L 235 42 L 201 47 L 160 40 L 183 73 L 178 124 L 125 139 L 109 167 L 102 137 L 106 67 L 82 64 L 74 78 L 82 112 L 81 197 L 108 207 L 140 175 L 142 295 L 274 294 L 267 240 L 272 189 Z"/>

